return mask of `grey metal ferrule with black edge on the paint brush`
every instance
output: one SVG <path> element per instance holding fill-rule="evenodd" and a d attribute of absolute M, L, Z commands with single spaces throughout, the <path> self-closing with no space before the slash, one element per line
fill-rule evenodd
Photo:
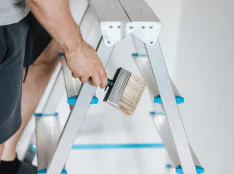
<path fill-rule="evenodd" d="M 114 106 L 118 106 L 130 77 L 131 73 L 129 71 L 123 68 L 117 69 L 113 79 L 114 84 L 109 87 L 104 101 Z"/>

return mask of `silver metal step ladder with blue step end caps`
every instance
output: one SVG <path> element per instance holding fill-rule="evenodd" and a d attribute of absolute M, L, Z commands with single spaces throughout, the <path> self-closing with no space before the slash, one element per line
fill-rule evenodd
<path fill-rule="evenodd" d="M 84 1 L 79 24 L 83 38 L 93 46 L 106 66 L 115 44 L 131 36 L 137 53 L 133 58 L 148 82 L 154 97 L 152 113 L 155 126 L 178 174 L 204 172 L 184 130 L 177 104 L 183 98 L 167 72 L 158 40 L 161 22 L 144 0 Z M 67 173 L 65 162 L 79 135 L 79 129 L 90 104 L 96 104 L 97 87 L 81 84 L 72 78 L 63 53 L 60 71 L 42 114 L 36 114 L 36 148 L 38 174 Z M 61 70 L 62 69 L 62 70 Z M 65 83 L 64 83 L 65 82 Z M 62 87 L 63 86 L 63 87 Z M 66 87 L 68 104 L 73 105 L 60 135 L 56 107 Z M 170 166 L 171 167 L 171 166 Z"/>

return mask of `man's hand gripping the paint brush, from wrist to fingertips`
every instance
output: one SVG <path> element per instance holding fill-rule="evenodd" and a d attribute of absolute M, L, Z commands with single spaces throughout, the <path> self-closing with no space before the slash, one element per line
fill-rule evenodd
<path fill-rule="evenodd" d="M 66 62 L 74 78 L 82 83 L 90 82 L 93 86 L 107 86 L 107 75 L 96 51 L 85 41 L 66 53 Z"/>

